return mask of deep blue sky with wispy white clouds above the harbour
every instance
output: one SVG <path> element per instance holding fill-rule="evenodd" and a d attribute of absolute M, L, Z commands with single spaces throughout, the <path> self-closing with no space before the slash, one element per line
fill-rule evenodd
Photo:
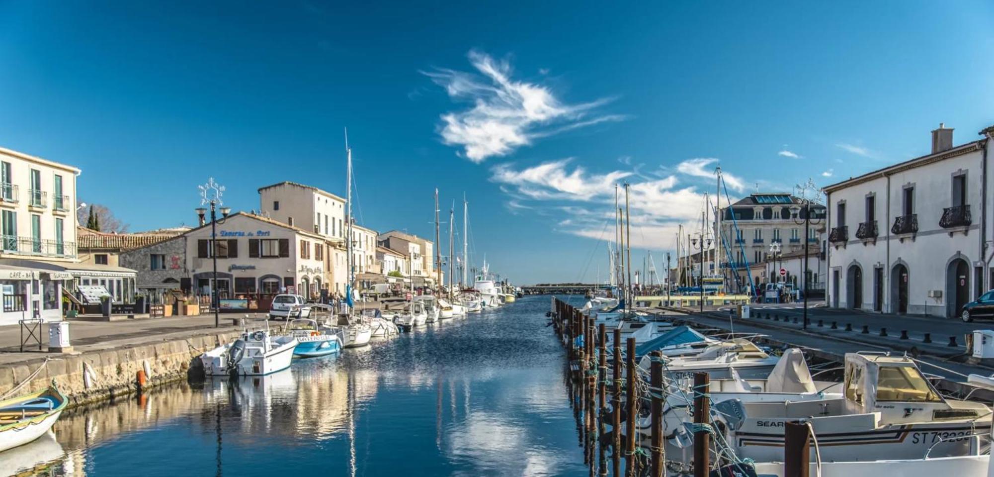
<path fill-rule="evenodd" d="M 473 260 L 533 283 L 606 268 L 615 182 L 661 266 L 717 165 L 789 192 L 994 124 L 991 2 L 415 3 L 0 0 L 0 145 L 137 231 L 210 176 L 344 194 L 348 126 L 361 222 L 430 236 L 465 192 Z"/>

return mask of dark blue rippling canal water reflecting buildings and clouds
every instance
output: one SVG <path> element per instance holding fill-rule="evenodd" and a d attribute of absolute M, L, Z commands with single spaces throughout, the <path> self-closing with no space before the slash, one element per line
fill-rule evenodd
<path fill-rule="evenodd" d="M 583 475 L 549 308 L 524 297 L 267 377 L 73 411 L 54 437 L 0 454 L 0 473 Z"/>

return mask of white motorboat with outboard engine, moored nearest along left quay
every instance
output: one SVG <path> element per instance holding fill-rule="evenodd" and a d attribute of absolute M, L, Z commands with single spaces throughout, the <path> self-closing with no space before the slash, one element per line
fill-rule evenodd
<path fill-rule="evenodd" d="M 261 376 L 290 367 L 297 340 L 293 336 L 272 336 L 265 329 L 246 331 L 232 343 L 200 356 L 207 376 Z"/>

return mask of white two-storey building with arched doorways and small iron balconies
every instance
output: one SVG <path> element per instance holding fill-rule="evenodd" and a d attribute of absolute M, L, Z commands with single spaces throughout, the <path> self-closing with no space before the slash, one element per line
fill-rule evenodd
<path fill-rule="evenodd" d="M 952 317 L 992 286 L 992 132 L 939 124 L 929 154 L 824 189 L 829 306 Z"/>

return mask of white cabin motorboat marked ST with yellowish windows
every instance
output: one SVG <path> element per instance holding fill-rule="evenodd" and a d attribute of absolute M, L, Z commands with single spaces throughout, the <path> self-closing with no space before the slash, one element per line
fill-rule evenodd
<path fill-rule="evenodd" d="M 989 447 L 991 408 L 942 397 L 911 358 L 847 353 L 845 361 L 842 397 L 739 401 L 739 415 L 713 413 L 716 432 L 755 462 L 782 462 L 784 424 L 797 420 L 817 438 L 812 462 L 957 457 Z"/>

